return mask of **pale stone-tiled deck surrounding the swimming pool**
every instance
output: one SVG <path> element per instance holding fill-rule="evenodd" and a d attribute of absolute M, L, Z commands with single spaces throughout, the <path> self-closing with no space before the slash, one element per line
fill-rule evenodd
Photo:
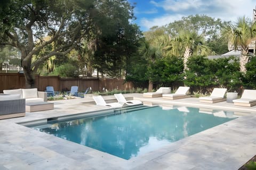
<path fill-rule="evenodd" d="M 147 104 L 194 106 L 235 111 L 239 117 L 186 137 L 145 155 L 124 160 L 108 153 L 60 139 L 20 125 L 49 118 L 99 114 L 111 110 L 84 99 L 51 101 L 54 110 L 26 112 L 25 117 L 0 120 L 0 169 L 238 169 L 256 154 L 256 106 L 233 103 L 199 103 L 197 98 L 164 100 L 125 94 Z M 104 96 L 113 100 L 114 96 Z M 249 114 L 244 114 L 248 112 Z"/>

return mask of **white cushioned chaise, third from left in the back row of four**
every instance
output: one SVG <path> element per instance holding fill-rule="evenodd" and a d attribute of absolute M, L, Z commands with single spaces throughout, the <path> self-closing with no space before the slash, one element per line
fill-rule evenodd
<path fill-rule="evenodd" d="M 224 98 L 227 88 L 214 88 L 210 96 L 200 97 L 199 101 L 203 103 L 217 103 L 225 101 Z"/>

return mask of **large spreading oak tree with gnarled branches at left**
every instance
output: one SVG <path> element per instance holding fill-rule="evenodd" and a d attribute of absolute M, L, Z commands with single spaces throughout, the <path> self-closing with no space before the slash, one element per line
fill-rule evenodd
<path fill-rule="evenodd" d="M 0 9 L 0 45 L 20 50 L 27 88 L 35 86 L 35 74 L 43 61 L 69 53 L 82 37 L 90 35 L 92 16 L 97 14 L 95 0 L 4 2 Z M 46 36 L 50 38 L 46 40 Z"/>

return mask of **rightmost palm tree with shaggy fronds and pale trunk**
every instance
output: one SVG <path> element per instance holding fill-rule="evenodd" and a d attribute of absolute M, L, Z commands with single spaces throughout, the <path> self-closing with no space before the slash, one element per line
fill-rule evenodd
<path fill-rule="evenodd" d="M 249 60 L 249 45 L 256 38 L 256 22 L 253 23 L 245 17 L 238 18 L 234 25 L 226 26 L 221 34 L 223 40 L 234 45 L 235 50 L 241 51 L 240 71 L 245 73 L 245 64 Z"/>

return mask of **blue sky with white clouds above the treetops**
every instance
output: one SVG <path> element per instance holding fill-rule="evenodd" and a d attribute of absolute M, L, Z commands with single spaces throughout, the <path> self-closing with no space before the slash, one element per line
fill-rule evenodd
<path fill-rule="evenodd" d="M 255 0 L 128 0 L 134 5 L 137 23 L 142 31 L 164 26 L 188 15 L 204 14 L 222 21 L 236 22 L 239 17 L 252 19 Z M 136 3 L 136 4 L 134 4 Z"/>

